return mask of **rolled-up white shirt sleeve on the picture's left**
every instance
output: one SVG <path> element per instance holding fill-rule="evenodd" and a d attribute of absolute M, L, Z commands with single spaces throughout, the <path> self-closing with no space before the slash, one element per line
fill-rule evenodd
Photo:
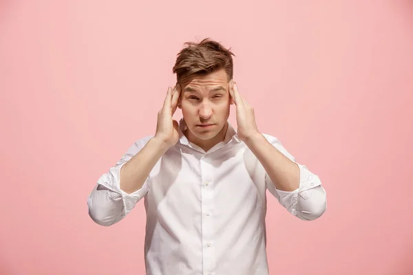
<path fill-rule="evenodd" d="M 120 189 L 120 169 L 151 139 L 136 141 L 109 171 L 101 175 L 87 198 L 89 216 L 99 225 L 109 226 L 123 219 L 149 191 L 148 176 L 139 190 L 131 194 Z"/>

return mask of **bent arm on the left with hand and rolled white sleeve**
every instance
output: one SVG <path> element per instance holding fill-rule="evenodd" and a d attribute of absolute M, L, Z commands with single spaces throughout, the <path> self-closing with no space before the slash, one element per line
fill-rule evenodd
<path fill-rule="evenodd" d="M 160 157 L 178 142 L 176 111 L 180 88 L 168 88 L 158 112 L 156 134 L 136 142 L 127 153 L 98 179 L 87 199 L 89 216 L 98 224 L 109 226 L 125 217 L 149 191 L 149 174 Z"/>

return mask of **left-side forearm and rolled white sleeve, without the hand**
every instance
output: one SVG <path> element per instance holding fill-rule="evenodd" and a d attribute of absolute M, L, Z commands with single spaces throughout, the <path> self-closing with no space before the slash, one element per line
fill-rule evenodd
<path fill-rule="evenodd" d="M 149 173 L 162 155 L 155 137 L 135 142 L 125 155 L 102 175 L 87 199 L 89 216 L 109 226 L 123 219 L 149 191 Z"/>

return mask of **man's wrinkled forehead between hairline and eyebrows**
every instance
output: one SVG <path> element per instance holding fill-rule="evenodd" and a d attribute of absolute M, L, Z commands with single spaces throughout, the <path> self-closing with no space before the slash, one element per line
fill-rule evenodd
<path fill-rule="evenodd" d="M 180 84 L 182 88 L 186 87 L 203 87 L 213 85 L 224 85 L 229 79 L 224 69 L 212 72 L 211 74 L 193 75 L 182 78 Z"/>

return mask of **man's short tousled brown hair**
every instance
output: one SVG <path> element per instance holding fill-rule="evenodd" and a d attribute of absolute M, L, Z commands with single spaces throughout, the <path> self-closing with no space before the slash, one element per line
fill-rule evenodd
<path fill-rule="evenodd" d="M 209 74 L 218 69 L 225 69 L 228 79 L 233 78 L 233 58 L 231 48 L 226 49 L 220 43 L 209 38 L 200 43 L 186 42 L 176 58 L 172 72 L 178 83 L 184 77 L 193 74 Z"/>

